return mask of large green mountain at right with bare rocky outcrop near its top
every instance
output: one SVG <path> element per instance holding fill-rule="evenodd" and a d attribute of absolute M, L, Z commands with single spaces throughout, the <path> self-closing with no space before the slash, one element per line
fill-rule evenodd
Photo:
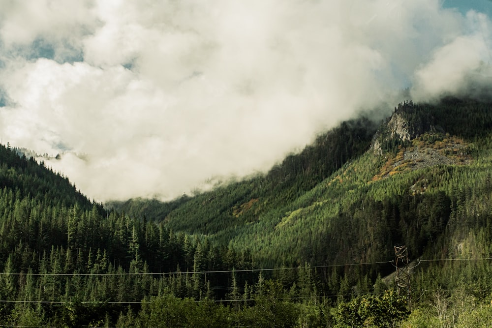
<path fill-rule="evenodd" d="M 412 297 L 422 311 L 408 327 L 432 322 L 443 304 L 471 320 L 484 312 L 470 314 L 469 306 L 492 292 L 485 278 L 492 258 L 491 132 L 489 102 L 405 101 L 378 126 L 368 119 L 341 124 L 265 176 L 154 202 L 145 213 L 174 231 L 247 249 L 262 267 L 321 267 L 331 295 L 372 290 L 378 277 L 395 271 L 395 246 L 404 245 L 418 270 Z M 148 215 L 157 208 L 166 210 Z M 469 302 L 459 310 L 453 299 L 460 297 Z M 458 314 L 450 319 L 450 310 L 439 311 L 434 326 L 422 327 L 457 325 Z"/>

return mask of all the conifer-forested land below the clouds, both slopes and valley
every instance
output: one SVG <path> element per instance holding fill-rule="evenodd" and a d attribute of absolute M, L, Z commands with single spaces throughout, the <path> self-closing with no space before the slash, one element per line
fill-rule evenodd
<path fill-rule="evenodd" d="M 111 210 L 1 146 L 0 326 L 488 327 L 491 110 L 405 101 L 264 176 Z"/>

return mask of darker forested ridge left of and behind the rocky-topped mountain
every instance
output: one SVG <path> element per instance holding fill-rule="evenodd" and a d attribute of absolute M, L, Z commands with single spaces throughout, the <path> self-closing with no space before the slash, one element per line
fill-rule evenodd
<path fill-rule="evenodd" d="M 346 121 L 318 136 L 299 154 L 287 156 L 266 175 L 229 181 L 213 191 L 169 203 L 136 199 L 110 206 L 136 217 L 145 215 L 149 220 L 162 221 L 174 231 L 226 244 L 238 240 L 235 247 L 249 248 L 240 244 L 240 239 L 252 240 L 254 235 L 258 240 L 261 232 L 271 233 L 285 213 L 312 202 L 315 196 L 310 193 L 321 181 L 369 149 L 376 128 L 367 118 Z M 296 248 L 299 252 L 304 246 Z M 298 263 L 304 259 L 282 258 L 285 261 Z"/>

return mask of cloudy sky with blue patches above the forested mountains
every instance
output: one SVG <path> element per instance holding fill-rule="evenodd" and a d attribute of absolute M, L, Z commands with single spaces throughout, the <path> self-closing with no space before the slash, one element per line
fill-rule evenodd
<path fill-rule="evenodd" d="M 0 134 L 98 202 L 268 171 L 409 88 L 490 84 L 487 0 L 0 0 Z M 476 89 L 476 88 L 474 88 Z"/>

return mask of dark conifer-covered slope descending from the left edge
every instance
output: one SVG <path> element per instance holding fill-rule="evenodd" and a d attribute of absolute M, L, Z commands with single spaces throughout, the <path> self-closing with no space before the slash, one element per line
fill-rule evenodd
<path fill-rule="evenodd" d="M 68 179 L 0 146 L 1 327 L 115 327 L 143 299 L 228 294 L 227 273 L 150 272 L 251 267 L 246 253 L 106 212 Z M 254 278 L 235 276 L 242 286 Z M 162 325 L 139 327 L 154 326 Z"/>

